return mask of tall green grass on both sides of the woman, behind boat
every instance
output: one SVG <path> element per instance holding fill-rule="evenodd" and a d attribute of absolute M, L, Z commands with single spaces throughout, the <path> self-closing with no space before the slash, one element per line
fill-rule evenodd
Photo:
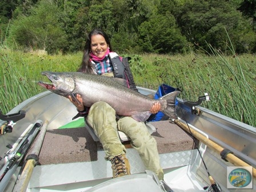
<path fill-rule="evenodd" d="M 203 107 L 256 127 L 255 55 L 225 55 L 211 49 L 210 54 L 129 55 L 135 83 L 154 90 L 161 83 L 179 87 L 179 97 L 189 101 L 209 93 L 211 101 Z M 0 46 L 0 109 L 7 113 L 45 91 L 36 83 L 46 80 L 42 71 L 76 71 L 81 59 L 82 53 L 23 53 Z"/>

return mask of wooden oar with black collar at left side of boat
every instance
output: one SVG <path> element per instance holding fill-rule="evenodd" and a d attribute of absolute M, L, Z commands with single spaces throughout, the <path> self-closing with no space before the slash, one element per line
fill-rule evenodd
<path fill-rule="evenodd" d="M 29 155 L 27 155 L 26 165 L 21 173 L 21 177 L 19 177 L 14 186 L 13 192 L 26 192 L 27 185 L 29 185 L 33 169 L 38 163 L 38 155 L 41 150 L 43 139 L 45 138 L 48 123 L 48 121 L 45 121 L 45 123 L 43 123 L 43 126 L 41 127 L 41 130 L 38 134 L 38 137 L 34 142 L 34 147 L 29 153 Z"/>

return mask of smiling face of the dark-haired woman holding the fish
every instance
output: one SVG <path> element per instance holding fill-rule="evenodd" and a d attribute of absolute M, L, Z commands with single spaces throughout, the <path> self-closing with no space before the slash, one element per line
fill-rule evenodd
<path fill-rule="evenodd" d="M 109 49 L 109 45 L 102 35 L 91 35 L 91 52 L 98 58 L 102 58 Z"/>

